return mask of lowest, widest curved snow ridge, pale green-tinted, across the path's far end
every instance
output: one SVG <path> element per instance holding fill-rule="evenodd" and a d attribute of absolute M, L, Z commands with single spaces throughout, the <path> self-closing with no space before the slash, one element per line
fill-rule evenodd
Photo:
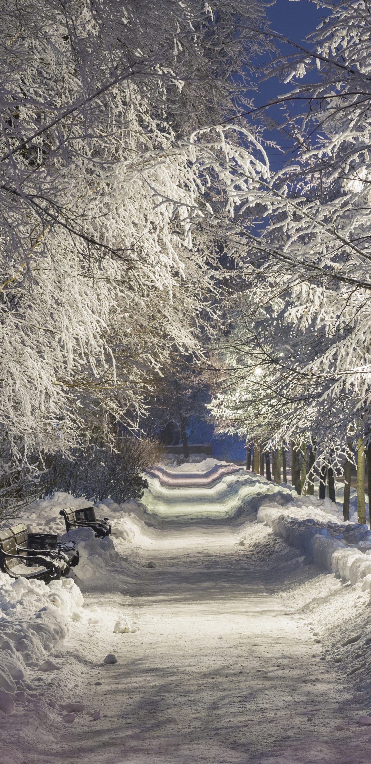
<path fill-rule="evenodd" d="M 241 515 L 256 518 L 256 512 L 263 500 L 271 497 L 276 504 L 292 501 L 292 490 L 277 486 L 251 472 L 238 471 L 224 475 L 209 487 L 192 486 L 174 490 L 160 483 L 158 478 L 148 478 L 148 488 L 141 503 L 148 514 L 171 520 L 183 516 L 192 517 L 236 517 Z"/>

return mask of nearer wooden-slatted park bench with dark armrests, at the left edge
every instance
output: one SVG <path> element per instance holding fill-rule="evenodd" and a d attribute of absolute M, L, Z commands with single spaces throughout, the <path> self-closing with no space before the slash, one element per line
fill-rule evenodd
<path fill-rule="evenodd" d="M 28 533 L 20 523 L 0 531 L 0 568 L 11 578 L 58 581 L 79 562 L 73 545 L 58 542 L 53 533 Z"/>

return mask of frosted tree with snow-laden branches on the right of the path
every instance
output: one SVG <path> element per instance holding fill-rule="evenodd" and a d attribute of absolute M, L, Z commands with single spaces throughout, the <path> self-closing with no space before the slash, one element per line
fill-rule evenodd
<path fill-rule="evenodd" d="M 236 169 L 224 230 L 246 300 L 226 351 L 229 392 L 215 406 L 240 429 L 254 419 L 272 436 L 310 432 L 330 454 L 350 430 L 354 442 L 369 436 L 371 418 L 371 38 L 366 2 L 320 5 L 330 12 L 308 50 L 267 70 L 291 84 L 280 100 L 295 160 L 248 189 Z M 304 104 L 293 117 L 292 99 Z"/>

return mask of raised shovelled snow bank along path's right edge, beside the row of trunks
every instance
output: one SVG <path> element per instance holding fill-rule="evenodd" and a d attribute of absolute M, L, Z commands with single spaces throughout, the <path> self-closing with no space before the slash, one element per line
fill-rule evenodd
<path fill-rule="evenodd" d="M 371 531 L 366 525 L 341 523 L 329 499 L 305 498 L 305 503 L 298 499 L 283 512 L 282 507 L 264 504 L 257 520 L 290 545 L 305 549 L 316 565 L 351 584 L 361 582 L 362 591 L 371 594 Z"/>

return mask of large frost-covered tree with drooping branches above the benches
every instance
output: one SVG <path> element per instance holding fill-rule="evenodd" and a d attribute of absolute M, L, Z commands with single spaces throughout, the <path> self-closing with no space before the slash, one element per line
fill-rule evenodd
<path fill-rule="evenodd" d="M 236 113 L 264 24 L 241 0 L 3 8 L 1 427 L 16 460 L 108 414 L 130 426 L 171 354 L 198 352 L 218 264 L 201 225 L 208 128 Z"/>

